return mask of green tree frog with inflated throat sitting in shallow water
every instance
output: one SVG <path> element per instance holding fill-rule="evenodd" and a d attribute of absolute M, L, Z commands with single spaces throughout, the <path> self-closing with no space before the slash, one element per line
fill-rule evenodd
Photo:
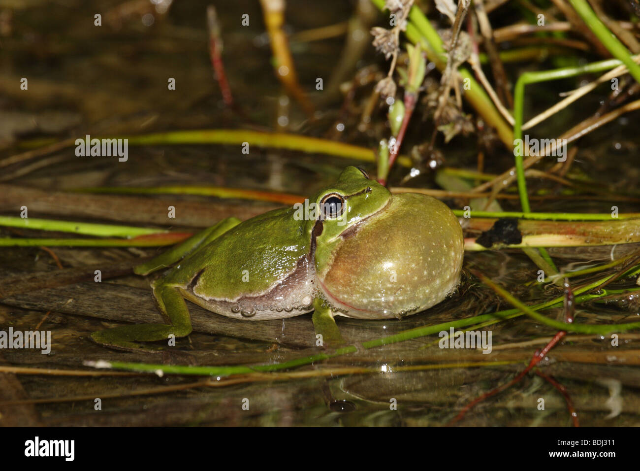
<path fill-rule="evenodd" d="M 314 311 L 316 332 L 340 343 L 336 316 L 403 318 L 444 301 L 460 282 L 463 252 L 460 223 L 444 202 L 391 194 L 349 166 L 304 204 L 221 220 L 136 266 L 140 276 L 166 270 L 151 283 L 166 323 L 91 337 L 140 350 L 144 342 L 188 336 L 189 301 L 243 321 Z"/>

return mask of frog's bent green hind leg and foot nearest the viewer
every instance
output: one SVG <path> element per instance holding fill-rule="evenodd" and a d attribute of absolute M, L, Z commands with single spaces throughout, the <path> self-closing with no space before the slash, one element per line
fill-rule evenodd
<path fill-rule="evenodd" d="M 139 324 L 136 326 L 120 326 L 113 329 L 94 332 L 94 342 L 116 350 L 134 352 L 161 352 L 161 347 L 141 345 L 138 342 L 168 341 L 184 337 L 191 333 L 191 317 L 186 302 L 174 286 L 157 283 L 154 285 L 154 296 L 168 324 Z"/>

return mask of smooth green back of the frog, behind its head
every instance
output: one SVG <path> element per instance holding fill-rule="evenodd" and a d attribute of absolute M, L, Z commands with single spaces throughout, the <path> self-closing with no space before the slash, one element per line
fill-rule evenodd
<path fill-rule="evenodd" d="M 164 282 L 188 286 L 197 277 L 194 291 L 216 299 L 266 292 L 309 253 L 305 221 L 294 212 L 282 208 L 241 222 L 184 258 Z"/>

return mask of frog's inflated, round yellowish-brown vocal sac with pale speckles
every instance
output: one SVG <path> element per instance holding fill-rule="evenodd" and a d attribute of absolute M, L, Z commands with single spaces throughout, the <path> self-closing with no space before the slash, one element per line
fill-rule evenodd
<path fill-rule="evenodd" d="M 421 194 L 394 195 L 388 206 L 351 227 L 317 272 L 337 314 L 401 317 L 438 304 L 456 288 L 463 260 L 458 219 L 442 202 Z"/>

